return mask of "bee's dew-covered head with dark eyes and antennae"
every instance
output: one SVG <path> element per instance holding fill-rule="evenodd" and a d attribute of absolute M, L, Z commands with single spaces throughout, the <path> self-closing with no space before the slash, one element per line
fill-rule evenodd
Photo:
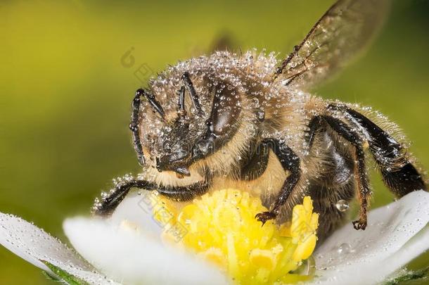
<path fill-rule="evenodd" d="M 226 145 L 241 115 L 241 96 L 231 84 L 207 84 L 195 76 L 193 80 L 195 86 L 184 72 L 179 87 L 153 85 L 142 91 L 146 100 L 139 107 L 137 143 L 149 158 L 146 164 L 178 177 L 189 176 L 188 167 Z"/>

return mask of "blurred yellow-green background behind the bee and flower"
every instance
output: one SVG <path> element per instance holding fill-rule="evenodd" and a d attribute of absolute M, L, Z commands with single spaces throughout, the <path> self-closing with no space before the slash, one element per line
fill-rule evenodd
<path fill-rule="evenodd" d="M 139 171 L 127 125 L 141 79 L 205 53 L 224 34 L 243 50 L 286 56 L 332 3 L 1 1 L 0 211 L 65 240 L 65 217 L 88 213 L 113 177 Z M 316 90 L 388 115 L 426 169 L 428 15 L 429 1 L 393 1 L 368 53 Z M 127 51 L 134 63 L 121 61 Z M 378 178 L 373 207 L 392 201 Z M 411 267 L 428 265 L 428 259 L 426 254 Z M 47 282 L 0 248 L 0 284 Z"/>

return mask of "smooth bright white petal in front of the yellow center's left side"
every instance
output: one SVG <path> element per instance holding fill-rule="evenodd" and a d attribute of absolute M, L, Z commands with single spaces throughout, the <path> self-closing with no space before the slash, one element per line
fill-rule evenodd
<path fill-rule="evenodd" d="M 129 223 L 126 223 L 128 226 Z M 139 227 L 111 220 L 75 217 L 63 227 L 76 250 L 94 267 L 124 284 L 226 284 L 226 277 L 202 260 L 164 246 Z"/>

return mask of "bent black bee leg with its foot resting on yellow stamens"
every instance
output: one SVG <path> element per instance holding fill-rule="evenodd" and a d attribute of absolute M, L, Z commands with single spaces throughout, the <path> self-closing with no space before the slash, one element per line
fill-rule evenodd
<path fill-rule="evenodd" d="M 278 212 L 284 203 L 288 200 L 290 193 L 292 193 L 295 186 L 300 181 L 301 169 L 300 169 L 300 158 L 293 152 L 293 150 L 286 144 L 278 141 L 278 139 L 264 139 L 262 144 L 269 146 L 271 150 L 276 154 L 278 160 L 280 160 L 281 166 L 285 171 L 290 172 L 290 175 L 283 182 L 280 194 L 276 198 L 276 201 L 271 205 L 269 211 L 258 213 L 255 218 L 262 222 L 262 226 L 268 220 L 274 220 Z"/>

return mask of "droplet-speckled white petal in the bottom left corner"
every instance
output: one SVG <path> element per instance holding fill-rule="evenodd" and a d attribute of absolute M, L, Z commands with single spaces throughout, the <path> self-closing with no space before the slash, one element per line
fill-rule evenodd
<path fill-rule="evenodd" d="M 44 262 L 89 284 L 113 284 L 58 239 L 20 217 L 0 213 L 0 243 L 53 277 L 58 278 Z"/>

